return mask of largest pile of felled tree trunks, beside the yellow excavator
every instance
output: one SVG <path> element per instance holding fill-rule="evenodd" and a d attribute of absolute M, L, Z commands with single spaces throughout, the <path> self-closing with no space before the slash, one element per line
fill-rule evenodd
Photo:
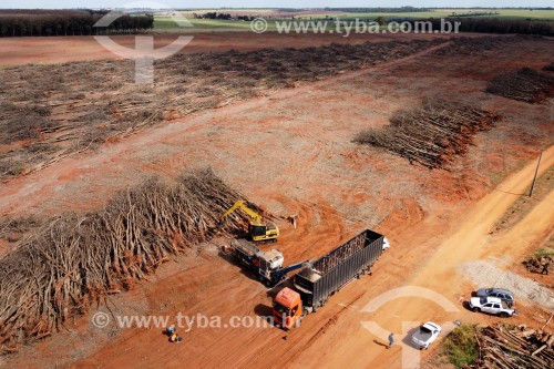
<path fill-rule="evenodd" d="M 187 247 L 244 229 L 248 218 L 237 213 L 218 224 L 239 198 L 204 170 L 172 184 L 147 181 L 94 214 L 44 222 L 0 260 L 0 352 L 51 335 Z"/>

